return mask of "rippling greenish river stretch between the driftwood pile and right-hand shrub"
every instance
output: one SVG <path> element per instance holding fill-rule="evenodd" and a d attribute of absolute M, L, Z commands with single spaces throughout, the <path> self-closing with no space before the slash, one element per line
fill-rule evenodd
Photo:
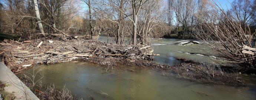
<path fill-rule="evenodd" d="M 181 39 L 154 39 L 151 44 L 154 48 L 154 53 L 160 54 L 160 56 L 155 56 L 154 61 L 161 64 L 174 65 L 178 63 L 176 58 L 186 58 L 202 63 L 213 63 L 214 57 L 200 55 L 216 56 L 210 47 L 203 44 L 191 44 L 187 46 L 175 45 L 174 43 L 178 40 Z"/>

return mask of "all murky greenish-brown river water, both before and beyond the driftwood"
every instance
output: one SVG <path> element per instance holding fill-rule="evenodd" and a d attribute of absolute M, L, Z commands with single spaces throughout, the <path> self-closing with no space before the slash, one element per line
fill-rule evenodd
<path fill-rule="evenodd" d="M 102 38 L 102 37 L 100 37 Z M 104 37 L 103 37 L 104 38 Z M 155 62 L 178 64 L 176 57 L 190 58 L 201 62 L 212 62 L 209 57 L 187 54 L 194 52 L 211 54 L 209 48 L 199 44 L 190 46 L 169 45 L 178 39 L 155 39 L 152 47 L 160 54 Z M 205 51 L 208 51 L 206 53 Z M 158 69 L 120 65 L 101 67 L 96 64 L 68 62 L 52 65 L 37 65 L 42 69 L 36 75 L 43 84 L 54 84 L 57 89 L 65 85 L 73 95 L 87 100 L 255 100 L 256 80 L 250 76 L 244 79 L 252 84 L 247 87 L 209 85 L 190 82 L 175 77 L 171 72 Z M 31 68 L 22 74 L 33 74 Z"/>

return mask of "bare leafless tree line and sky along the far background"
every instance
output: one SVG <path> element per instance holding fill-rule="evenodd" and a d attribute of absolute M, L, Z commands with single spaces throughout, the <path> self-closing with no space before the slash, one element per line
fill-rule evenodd
<path fill-rule="evenodd" d="M 206 23 L 211 21 L 207 10 L 213 9 L 214 6 L 210 7 L 213 2 L 3 0 L 0 4 L 1 32 L 24 38 L 38 37 L 37 33 L 58 32 L 70 35 L 107 35 L 115 37 L 117 44 L 122 44 L 127 39 L 130 39 L 130 44 L 148 44 L 150 38 L 196 38 L 196 30 L 204 22 L 202 19 L 207 20 Z M 234 0 L 230 3 L 229 12 L 225 13 L 249 26 L 253 32 L 256 25 L 255 3 L 256 0 Z M 86 10 L 81 4 L 86 5 Z M 43 30 L 39 29 L 40 24 Z"/>

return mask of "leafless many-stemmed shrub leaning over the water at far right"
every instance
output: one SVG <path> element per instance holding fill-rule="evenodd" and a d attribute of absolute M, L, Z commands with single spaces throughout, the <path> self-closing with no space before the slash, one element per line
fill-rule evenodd
<path fill-rule="evenodd" d="M 249 25 L 243 20 L 237 20 L 239 12 L 225 11 L 219 4 L 213 2 L 206 9 L 207 17 L 199 16 L 200 26 L 196 29 L 197 36 L 209 44 L 218 53 L 221 60 L 237 63 L 243 71 L 255 69 L 256 51 L 253 46 L 255 31 L 250 31 Z"/>

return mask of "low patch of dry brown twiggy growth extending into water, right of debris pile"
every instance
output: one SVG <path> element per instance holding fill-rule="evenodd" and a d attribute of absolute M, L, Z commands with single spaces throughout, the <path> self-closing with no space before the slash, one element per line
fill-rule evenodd
<path fill-rule="evenodd" d="M 245 81 L 238 72 L 228 72 L 219 65 L 204 63 L 181 63 L 174 68 L 180 78 L 197 82 L 244 86 Z"/>

